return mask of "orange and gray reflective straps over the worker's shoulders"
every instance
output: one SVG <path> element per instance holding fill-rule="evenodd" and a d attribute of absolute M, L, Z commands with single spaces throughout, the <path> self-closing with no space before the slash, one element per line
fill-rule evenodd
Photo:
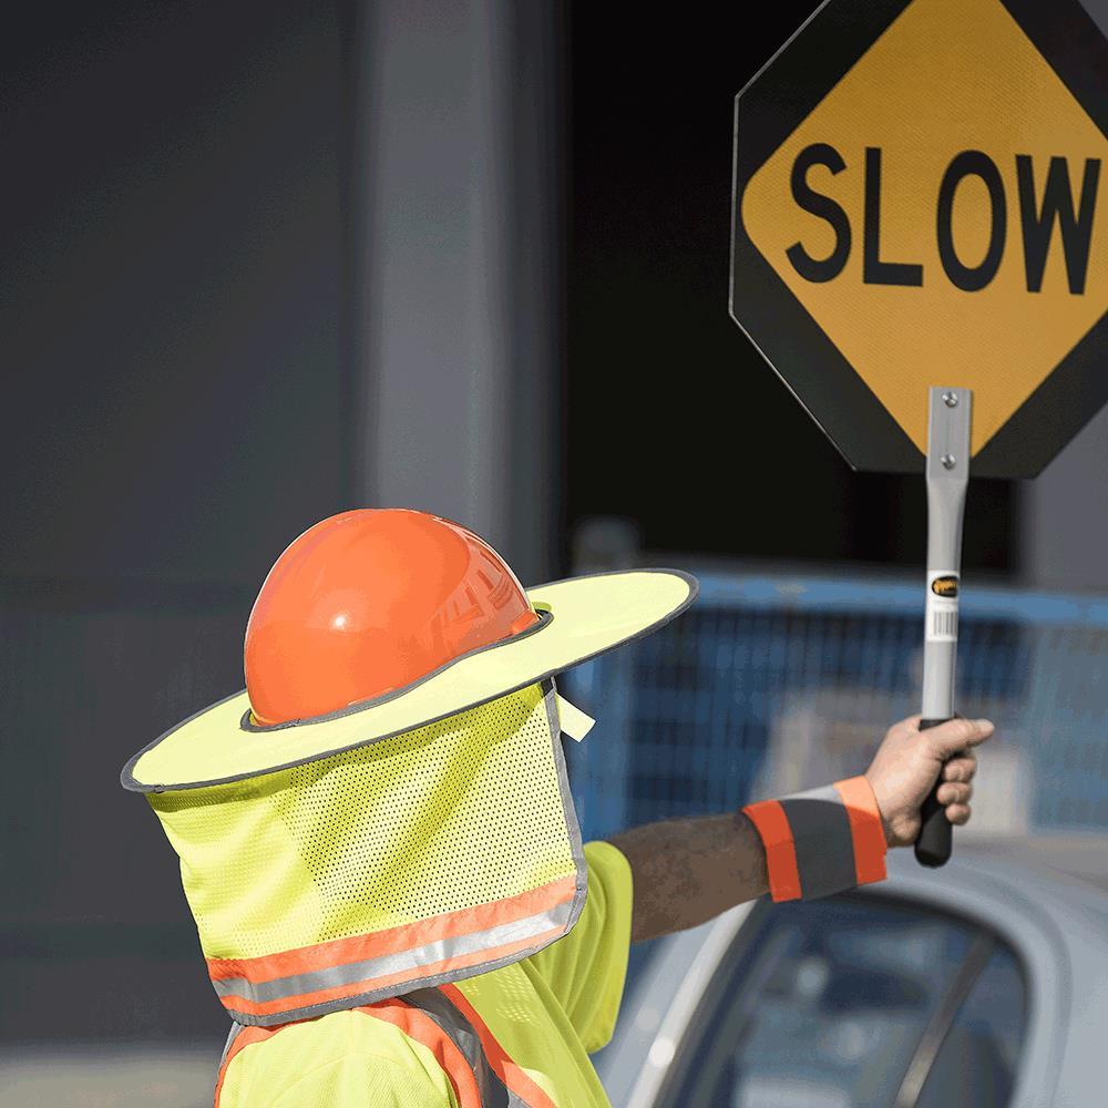
<path fill-rule="evenodd" d="M 459 1108 L 556 1108 L 512 1061 L 456 985 L 419 988 L 352 1010 L 392 1024 L 430 1049 L 450 1081 Z M 232 1026 L 219 1061 L 215 1108 L 220 1108 L 224 1079 L 238 1054 L 293 1026 Z"/>

